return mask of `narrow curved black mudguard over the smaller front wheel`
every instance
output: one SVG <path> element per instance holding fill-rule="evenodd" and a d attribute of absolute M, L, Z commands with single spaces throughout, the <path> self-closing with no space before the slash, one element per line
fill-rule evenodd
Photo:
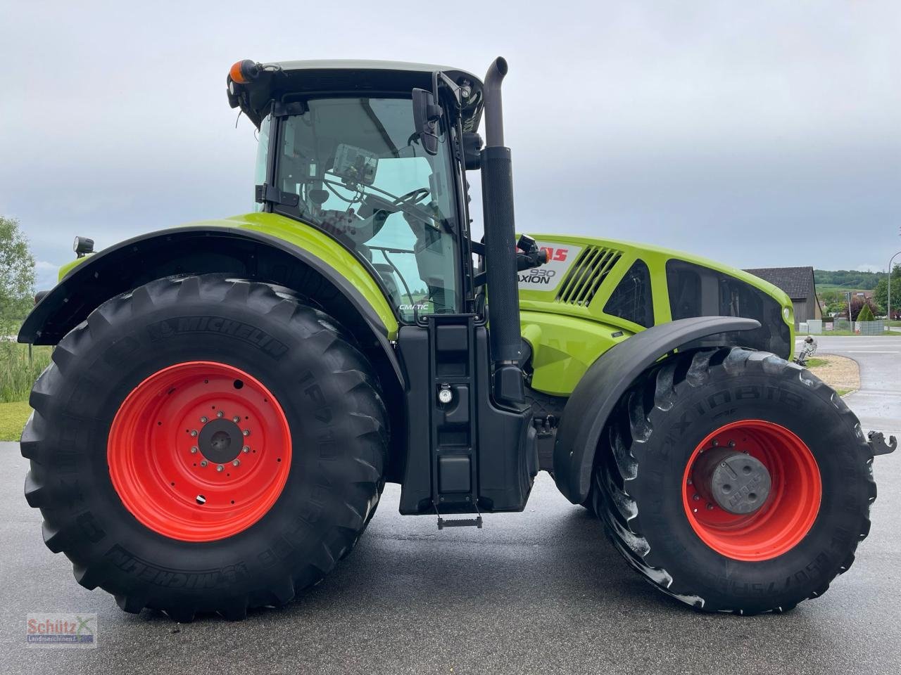
<path fill-rule="evenodd" d="M 563 496 L 573 504 L 587 498 L 595 450 L 607 417 L 642 371 L 694 340 L 759 327 L 756 320 L 738 317 L 680 319 L 642 330 L 600 356 L 573 390 L 557 431 L 554 481 Z"/>

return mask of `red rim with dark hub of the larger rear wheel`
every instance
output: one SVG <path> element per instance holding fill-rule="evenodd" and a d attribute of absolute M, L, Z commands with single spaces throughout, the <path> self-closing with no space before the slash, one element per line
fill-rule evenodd
<path fill-rule="evenodd" d="M 291 436 L 259 380 L 193 361 L 134 388 L 116 412 L 106 457 L 115 491 L 143 525 L 205 542 L 238 534 L 278 500 Z"/>

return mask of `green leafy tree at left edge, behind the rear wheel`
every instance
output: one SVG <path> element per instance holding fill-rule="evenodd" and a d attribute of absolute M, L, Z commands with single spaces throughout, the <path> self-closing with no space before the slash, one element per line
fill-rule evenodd
<path fill-rule="evenodd" d="M 22 320 L 34 303 L 34 256 L 14 218 L 0 216 L 0 321 Z"/>

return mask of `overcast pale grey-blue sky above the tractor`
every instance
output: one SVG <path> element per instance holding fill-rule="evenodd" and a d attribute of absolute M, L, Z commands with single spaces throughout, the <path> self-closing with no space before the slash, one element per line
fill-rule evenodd
<path fill-rule="evenodd" d="M 267 5 L 0 0 L 0 213 L 43 285 L 75 234 L 250 211 L 253 128 L 224 92 L 240 58 L 504 56 L 522 230 L 740 267 L 901 249 L 897 0 Z"/>

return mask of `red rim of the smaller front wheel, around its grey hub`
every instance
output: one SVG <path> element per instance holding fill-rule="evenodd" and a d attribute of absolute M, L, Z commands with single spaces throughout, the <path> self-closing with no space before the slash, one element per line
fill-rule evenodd
<path fill-rule="evenodd" d="M 759 509 L 730 513 L 698 490 L 694 470 L 705 452 L 717 448 L 734 448 L 766 467 L 771 488 Z M 742 561 L 770 560 L 798 545 L 814 525 L 822 495 L 810 448 L 787 428 L 760 419 L 733 422 L 705 437 L 682 479 L 682 501 L 696 535 L 717 553 Z"/>

